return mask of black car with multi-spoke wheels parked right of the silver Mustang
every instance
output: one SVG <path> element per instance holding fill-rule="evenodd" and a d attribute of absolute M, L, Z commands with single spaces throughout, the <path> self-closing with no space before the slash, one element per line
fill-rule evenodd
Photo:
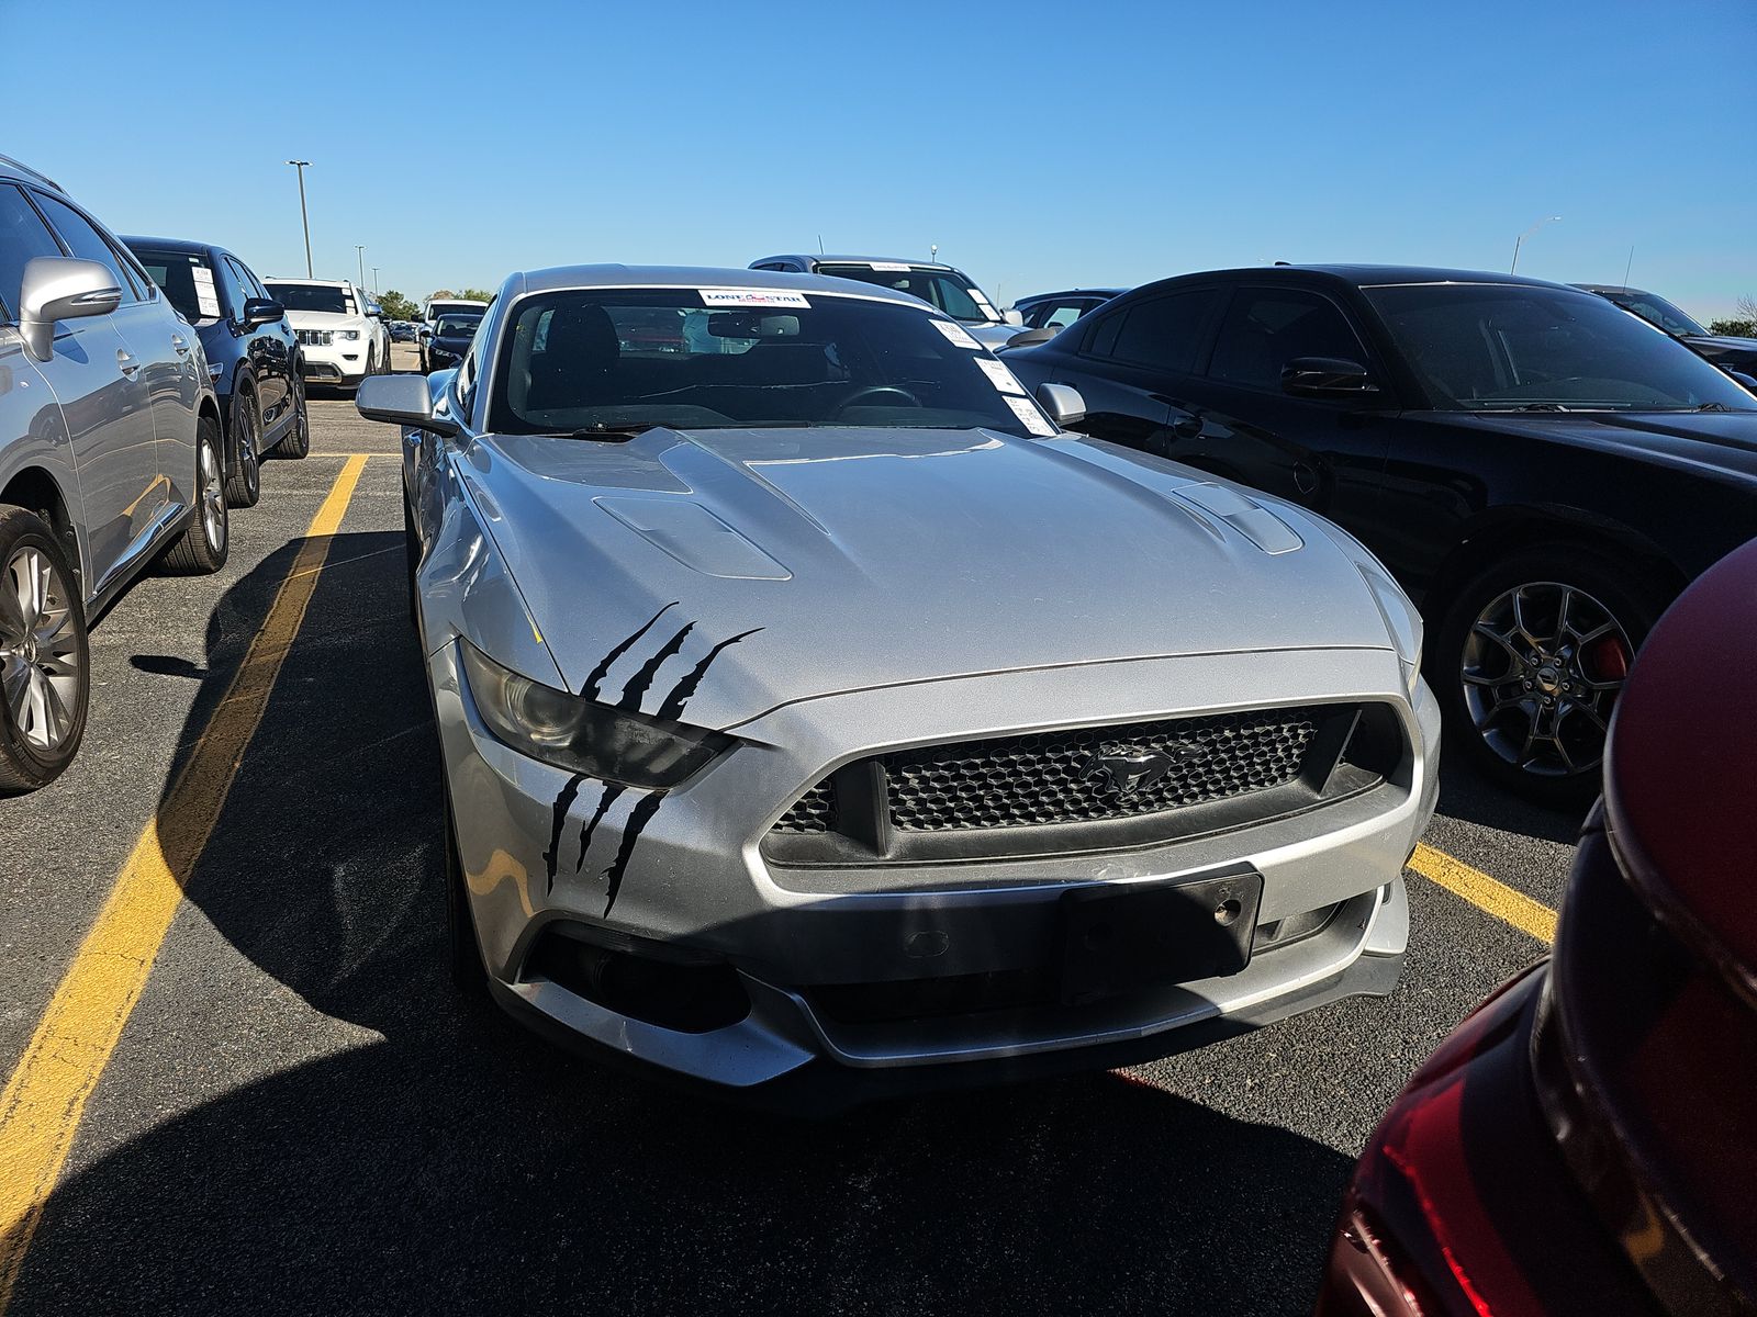
<path fill-rule="evenodd" d="M 1757 534 L 1757 399 L 1590 293 L 1376 265 L 1146 284 L 1037 348 L 1081 428 L 1298 502 L 1421 601 L 1476 762 L 1583 801 L 1678 590 Z"/>

